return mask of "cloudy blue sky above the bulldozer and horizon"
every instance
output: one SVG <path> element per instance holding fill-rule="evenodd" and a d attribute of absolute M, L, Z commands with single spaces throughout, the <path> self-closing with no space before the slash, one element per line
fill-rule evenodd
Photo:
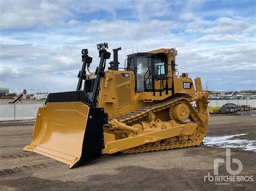
<path fill-rule="evenodd" d="M 0 87 L 75 90 L 81 49 L 127 54 L 175 47 L 179 74 L 208 90 L 256 89 L 256 1 L 0 0 Z M 112 60 L 111 59 L 109 61 Z"/>

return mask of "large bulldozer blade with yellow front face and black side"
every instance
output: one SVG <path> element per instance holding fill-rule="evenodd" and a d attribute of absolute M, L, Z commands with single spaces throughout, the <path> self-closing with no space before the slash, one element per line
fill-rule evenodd
<path fill-rule="evenodd" d="M 32 142 L 24 151 L 69 164 L 70 168 L 102 155 L 104 109 L 82 102 L 48 102 L 39 108 Z"/>

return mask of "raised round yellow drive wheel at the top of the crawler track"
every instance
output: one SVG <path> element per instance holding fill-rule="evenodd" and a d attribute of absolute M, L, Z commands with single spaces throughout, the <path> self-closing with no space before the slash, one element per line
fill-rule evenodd
<path fill-rule="evenodd" d="M 175 105 L 170 112 L 172 119 L 180 122 L 186 121 L 190 116 L 190 109 L 184 103 Z"/>

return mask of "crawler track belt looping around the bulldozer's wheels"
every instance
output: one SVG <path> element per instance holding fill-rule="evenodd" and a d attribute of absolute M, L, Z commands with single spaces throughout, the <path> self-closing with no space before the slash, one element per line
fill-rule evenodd
<path fill-rule="evenodd" d="M 151 144 L 140 145 L 137 147 L 129 148 L 127 150 L 121 151 L 122 153 L 138 153 L 138 152 L 150 152 L 150 151 L 163 151 L 173 148 L 185 148 L 191 146 L 199 145 L 207 132 L 208 124 L 203 122 L 199 117 L 197 111 L 195 111 L 191 103 L 186 98 L 170 98 L 161 103 L 148 105 L 142 107 L 135 111 L 130 112 L 129 114 L 117 117 L 119 122 L 125 123 L 127 125 L 136 123 L 139 119 L 146 117 L 150 112 L 158 112 L 164 109 L 171 109 L 176 104 L 184 103 L 188 105 L 190 109 L 190 121 L 197 123 L 199 128 L 199 133 L 196 138 L 184 140 L 182 136 L 171 137 L 167 139 L 160 140 Z M 169 116 L 170 117 L 170 116 Z"/>

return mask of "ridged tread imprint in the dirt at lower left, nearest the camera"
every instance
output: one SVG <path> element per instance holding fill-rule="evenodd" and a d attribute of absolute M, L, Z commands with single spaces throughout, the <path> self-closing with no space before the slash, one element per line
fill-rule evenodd
<path fill-rule="evenodd" d="M 57 162 L 48 162 L 48 163 L 41 163 L 41 164 L 35 164 L 31 166 L 22 166 L 22 167 L 15 167 L 15 168 L 6 168 L 3 170 L 0 170 L 0 176 L 9 175 L 9 174 L 16 174 L 21 172 L 29 172 L 33 171 L 34 169 L 43 169 L 48 167 L 55 167 L 57 166 Z"/>

